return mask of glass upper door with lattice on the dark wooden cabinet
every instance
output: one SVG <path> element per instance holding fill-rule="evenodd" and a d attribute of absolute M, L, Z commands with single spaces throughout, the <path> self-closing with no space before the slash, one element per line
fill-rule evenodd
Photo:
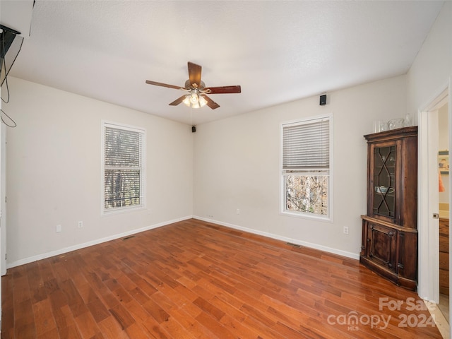
<path fill-rule="evenodd" d="M 396 145 L 374 147 L 373 213 L 396 216 Z"/>

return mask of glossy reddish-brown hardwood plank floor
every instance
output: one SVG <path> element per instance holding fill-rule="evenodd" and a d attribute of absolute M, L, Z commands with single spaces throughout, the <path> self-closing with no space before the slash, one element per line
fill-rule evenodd
<path fill-rule="evenodd" d="M 2 302 L 4 339 L 441 338 L 357 260 L 200 220 L 11 268 Z"/>

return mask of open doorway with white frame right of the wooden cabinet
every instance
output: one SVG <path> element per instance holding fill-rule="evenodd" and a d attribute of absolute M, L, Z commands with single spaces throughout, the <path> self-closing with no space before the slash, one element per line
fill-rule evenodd
<path fill-rule="evenodd" d="M 451 129 L 444 130 L 444 115 L 449 124 L 451 121 L 451 79 L 449 83 L 438 92 L 430 102 L 420 110 L 419 122 L 419 179 L 418 179 L 418 231 L 419 231 L 419 264 L 418 264 L 418 294 L 429 302 L 436 303 L 436 309 L 444 319 L 444 327 L 447 329 L 447 338 L 450 335 L 450 298 L 445 298 L 444 293 L 440 298 L 440 235 L 439 216 L 443 221 L 451 215 L 448 203 L 451 201 L 452 181 L 448 179 L 448 171 L 443 175 L 439 171 L 439 150 L 452 150 Z M 445 112 L 445 113 L 444 113 Z M 441 116 L 441 117 L 440 117 Z M 439 131 L 446 136 L 439 136 Z M 446 155 L 446 153 L 443 153 Z M 447 174 L 446 174 L 447 172 Z M 444 192 L 439 192 L 439 184 L 444 185 Z M 440 196 L 441 194 L 441 196 Z M 440 211 L 439 203 L 442 210 Z M 441 215 L 440 215 L 441 214 Z M 444 241 L 444 239 L 443 239 Z M 450 238 L 446 244 L 442 244 L 443 250 L 451 249 Z M 448 251 L 450 253 L 450 251 Z M 441 254 L 441 259 L 444 259 Z M 447 254 L 448 258 L 448 254 Z M 441 263 L 445 268 L 444 263 Z M 450 263 L 448 263 L 448 280 L 450 281 Z M 444 280 L 444 272 L 442 272 Z M 444 281 L 442 282 L 444 285 Z M 441 290 L 444 292 L 444 289 Z M 443 317 L 444 314 L 444 317 Z"/>

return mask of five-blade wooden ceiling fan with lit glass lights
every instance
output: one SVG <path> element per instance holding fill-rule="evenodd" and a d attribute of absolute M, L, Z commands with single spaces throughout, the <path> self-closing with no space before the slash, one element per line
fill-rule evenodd
<path fill-rule="evenodd" d="M 157 81 L 146 80 L 149 85 L 157 85 L 167 88 L 174 88 L 176 90 L 184 90 L 187 93 L 182 97 L 177 98 L 171 102 L 170 106 L 177 106 L 181 102 L 193 108 L 203 107 L 208 105 L 211 109 L 220 107 L 215 101 L 210 99 L 207 94 L 224 94 L 224 93 L 241 93 L 240 85 L 234 86 L 220 86 L 220 87 L 206 87 L 206 84 L 201 81 L 201 66 L 188 62 L 189 66 L 189 80 L 185 82 L 185 87 L 176 85 L 168 85 L 167 83 L 157 83 Z"/>

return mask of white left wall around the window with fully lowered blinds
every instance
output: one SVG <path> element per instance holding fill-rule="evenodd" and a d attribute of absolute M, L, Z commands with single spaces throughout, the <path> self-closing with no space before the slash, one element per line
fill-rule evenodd
<path fill-rule="evenodd" d="M 18 78 L 8 85 L 4 109 L 17 123 L 8 129 L 8 267 L 192 215 L 189 126 Z M 102 119 L 146 130 L 143 210 L 101 216 Z"/>

